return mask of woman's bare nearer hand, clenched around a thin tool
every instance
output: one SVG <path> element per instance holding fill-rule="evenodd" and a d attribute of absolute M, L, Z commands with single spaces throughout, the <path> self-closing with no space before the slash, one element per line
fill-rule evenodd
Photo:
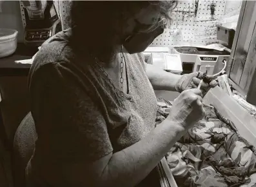
<path fill-rule="evenodd" d="M 204 115 L 201 90 L 190 89 L 182 92 L 174 100 L 168 119 L 188 130 L 188 128 L 191 128 L 202 119 Z"/>

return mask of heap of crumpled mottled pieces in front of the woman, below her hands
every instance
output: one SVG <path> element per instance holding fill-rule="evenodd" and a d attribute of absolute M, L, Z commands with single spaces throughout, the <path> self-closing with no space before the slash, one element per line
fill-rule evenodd
<path fill-rule="evenodd" d="M 156 124 L 171 106 L 159 102 Z M 253 145 L 237 133 L 235 125 L 213 106 L 204 105 L 206 116 L 190 128 L 167 153 L 168 166 L 178 186 L 256 186 Z"/>

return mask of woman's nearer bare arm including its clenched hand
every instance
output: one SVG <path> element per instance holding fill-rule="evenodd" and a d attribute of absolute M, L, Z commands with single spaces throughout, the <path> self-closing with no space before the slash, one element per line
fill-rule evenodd
<path fill-rule="evenodd" d="M 193 94 L 195 93 L 195 94 Z M 141 141 L 117 153 L 110 153 L 94 164 L 77 164 L 75 181 L 89 186 L 132 187 L 141 182 L 162 157 L 204 115 L 200 90 L 186 90 L 173 103 L 170 115 Z M 174 109 L 173 109 L 174 108 Z M 85 168 L 91 175 L 84 175 Z M 87 172 L 86 172 L 87 173 Z M 77 183 L 72 182 L 74 186 Z"/>

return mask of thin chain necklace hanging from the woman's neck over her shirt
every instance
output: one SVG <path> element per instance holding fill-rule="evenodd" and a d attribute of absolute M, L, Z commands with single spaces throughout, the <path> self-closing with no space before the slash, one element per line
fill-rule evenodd
<path fill-rule="evenodd" d="M 126 65 L 126 60 L 124 57 L 124 53 L 123 53 L 123 45 L 121 46 L 121 52 L 120 52 L 120 70 L 121 70 L 121 77 L 119 79 L 120 82 L 120 90 L 116 88 L 115 84 L 113 83 L 113 80 L 111 79 L 110 75 L 108 75 L 108 72 L 106 72 L 106 70 L 104 69 L 103 66 L 101 66 L 101 64 L 99 64 L 97 58 L 96 58 L 96 64 L 97 66 L 99 66 L 99 70 L 101 70 L 101 72 L 103 72 L 103 74 L 106 76 L 106 78 L 108 79 L 108 81 L 110 82 L 110 84 L 112 84 L 114 91 L 116 94 L 121 94 L 121 104 L 122 107 L 124 108 L 124 78 L 123 78 L 123 73 L 124 73 L 124 64 Z"/>

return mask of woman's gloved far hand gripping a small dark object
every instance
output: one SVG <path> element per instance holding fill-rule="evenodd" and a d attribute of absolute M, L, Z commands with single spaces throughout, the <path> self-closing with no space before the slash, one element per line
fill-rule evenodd
<path fill-rule="evenodd" d="M 179 79 L 178 83 L 175 86 L 177 92 L 183 92 L 184 90 L 188 90 L 191 88 L 197 88 L 198 84 L 200 83 L 201 79 L 203 78 L 204 73 L 202 72 L 193 72 L 191 74 L 184 74 Z M 205 95 L 210 88 L 214 88 L 217 86 L 217 81 L 213 80 L 208 83 L 202 83 L 201 90 L 202 95 Z"/>

